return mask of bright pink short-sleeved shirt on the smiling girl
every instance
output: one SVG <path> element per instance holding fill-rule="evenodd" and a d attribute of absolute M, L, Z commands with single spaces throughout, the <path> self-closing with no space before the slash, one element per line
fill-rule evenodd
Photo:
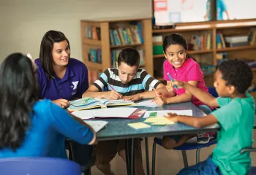
<path fill-rule="evenodd" d="M 170 79 L 167 76 L 167 72 L 169 72 L 170 77 L 173 79 L 177 79 L 183 82 L 197 81 L 197 88 L 200 88 L 201 90 L 208 93 L 208 88 L 206 87 L 205 81 L 203 79 L 203 71 L 201 71 L 199 64 L 192 58 L 187 58 L 183 65 L 178 69 L 174 69 L 173 65 L 171 65 L 166 60 L 164 63 L 164 79 L 170 82 Z M 174 91 L 179 96 L 185 93 L 186 90 L 183 88 L 176 90 L 174 88 Z M 195 96 L 192 98 L 192 103 L 196 106 L 203 105 L 203 103 L 195 98 Z"/>

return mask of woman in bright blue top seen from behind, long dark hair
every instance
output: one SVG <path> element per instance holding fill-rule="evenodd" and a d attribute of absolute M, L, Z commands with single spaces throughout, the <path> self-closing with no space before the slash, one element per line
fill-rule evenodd
<path fill-rule="evenodd" d="M 67 158 L 66 137 L 80 144 L 95 142 L 89 125 L 49 100 L 38 101 L 36 67 L 20 53 L 1 63 L 0 158 Z"/>

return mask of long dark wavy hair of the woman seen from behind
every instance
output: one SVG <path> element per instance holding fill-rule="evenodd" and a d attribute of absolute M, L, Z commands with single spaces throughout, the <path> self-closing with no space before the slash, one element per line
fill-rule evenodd
<path fill-rule="evenodd" d="M 0 66 L 0 149 L 18 149 L 26 138 L 33 106 L 38 101 L 37 79 L 31 60 L 9 55 Z"/>

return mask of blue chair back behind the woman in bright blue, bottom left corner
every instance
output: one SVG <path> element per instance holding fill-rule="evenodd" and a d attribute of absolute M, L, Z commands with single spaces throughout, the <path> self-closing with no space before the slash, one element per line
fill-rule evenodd
<path fill-rule="evenodd" d="M 61 158 L 4 158 L 0 159 L 1 174 L 15 175 L 81 175 L 77 163 Z"/>

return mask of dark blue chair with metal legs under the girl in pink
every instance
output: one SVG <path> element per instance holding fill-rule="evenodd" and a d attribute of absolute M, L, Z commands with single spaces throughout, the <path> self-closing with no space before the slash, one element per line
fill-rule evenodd
<path fill-rule="evenodd" d="M 216 91 L 215 88 L 208 88 L 209 93 L 211 94 L 211 96 L 214 96 L 215 98 L 218 97 L 218 93 Z M 153 154 L 152 154 L 152 175 L 155 174 L 155 166 L 156 166 L 156 149 L 157 149 L 157 144 L 159 144 L 160 146 L 162 146 L 162 139 L 159 138 L 154 138 L 154 143 L 153 143 Z M 183 161 L 184 161 L 184 167 L 187 168 L 188 167 L 188 162 L 187 162 L 187 150 L 192 150 L 192 149 L 197 149 L 196 151 L 196 163 L 200 162 L 200 149 L 204 148 L 204 147 L 210 147 L 213 144 L 217 144 L 217 140 L 216 139 L 212 139 L 211 141 L 209 141 L 207 144 L 189 144 L 189 143 L 185 143 L 182 144 L 180 147 L 176 147 L 174 148 L 175 150 L 179 150 L 182 152 L 182 157 L 183 157 Z"/>

